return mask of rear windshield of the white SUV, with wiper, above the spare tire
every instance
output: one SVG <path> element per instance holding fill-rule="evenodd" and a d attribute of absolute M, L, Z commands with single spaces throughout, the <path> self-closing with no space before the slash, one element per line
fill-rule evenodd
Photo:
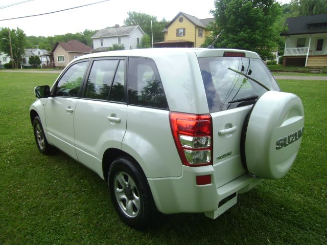
<path fill-rule="evenodd" d="M 253 104 L 256 97 L 267 92 L 264 87 L 280 90 L 261 59 L 205 57 L 198 60 L 211 113 Z"/>

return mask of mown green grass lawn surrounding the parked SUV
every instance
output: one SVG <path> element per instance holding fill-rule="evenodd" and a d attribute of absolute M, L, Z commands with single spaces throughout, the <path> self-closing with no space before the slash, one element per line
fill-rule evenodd
<path fill-rule="evenodd" d="M 33 88 L 56 76 L 0 73 L 0 244 L 327 244 L 325 81 L 279 80 L 306 112 L 301 149 L 283 179 L 240 194 L 216 220 L 167 215 L 140 232 L 120 221 L 98 175 L 64 153 L 38 152 Z"/>

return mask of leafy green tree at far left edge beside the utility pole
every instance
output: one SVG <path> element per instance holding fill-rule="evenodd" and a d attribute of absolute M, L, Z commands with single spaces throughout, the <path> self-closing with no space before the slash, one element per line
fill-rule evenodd
<path fill-rule="evenodd" d="M 13 68 L 18 67 L 25 54 L 26 35 L 23 30 L 17 28 L 10 30 L 10 39 L 12 46 L 12 60 Z M 0 50 L 11 56 L 10 41 L 9 41 L 9 28 L 0 28 Z"/>

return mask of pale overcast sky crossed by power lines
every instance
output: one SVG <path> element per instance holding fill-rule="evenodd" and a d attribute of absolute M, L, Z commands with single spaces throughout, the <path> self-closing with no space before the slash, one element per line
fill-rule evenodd
<path fill-rule="evenodd" d="M 100 1 L 0 0 L 0 19 L 42 14 Z M 290 0 L 278 0 L 278 2 L 289 3 Z M 3 8 L 15 3 L 21 4 Z M 197 4 L 192 4 L 191 0 L 110 0 L 54 14 L 0 21 L 0 28 L 16 29 L 18 27 L 24 30 L 27 36 L 54 36 L 69 32 L 83 32 L 85 29 L 100 30 L 115 24 L 122 26 L 129 11 L 157 16 L 158 20 L 164 17 L 166 20 L 171 20 L 180 11 L 200 19 L 212 18 L 213 15 L 209 13 L 211 9 L 214 9 L 214 0 L 200 0 Z"/>

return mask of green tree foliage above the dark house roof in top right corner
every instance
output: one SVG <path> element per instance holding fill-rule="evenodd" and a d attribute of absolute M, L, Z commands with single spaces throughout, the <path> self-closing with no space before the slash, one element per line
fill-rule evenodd
<path fill-rule="evenodd" d="M 292 0 L 290 9 L 295 16 L 327 14 L 326 0 Z"/>

